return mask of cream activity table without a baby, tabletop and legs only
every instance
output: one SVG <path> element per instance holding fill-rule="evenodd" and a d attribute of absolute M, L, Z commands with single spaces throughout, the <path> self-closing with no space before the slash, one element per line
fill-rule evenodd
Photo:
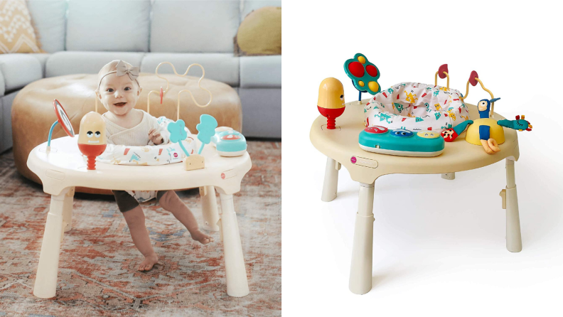
<path fill-rule="evenodd" d="M 506 248 L 510 252 L 522 250 L 520 217 L 516 193 L 514 162 L 518 161 L 518 136 L 516 130 L 504 129 L 505 143 L 500 152 L 490 155 L 482 146 L 469 144 L 463 132 L 456 141 L 446 143 L 444 153 L 435 157 L 409 157 L 376 154 L 360 149 L 358 134 L 364 127 L 364 106 L 355 101 L 346 104 L 345 112 L 336 119 L 336 129 L 326 129 L 326 118 L 318 116 L 311 127 L 313 146 L 327 156 L 321 200 L 336 198 L 338 171 L 344 166 L 353 181 L 360 183 L 358 213 L 355 220 L 350 291 L 365 294 L 372 288 L 373 249 L 373 195 L 377 178 L 387 174 L 441 174 L 442 178 L 454 179 L 455 172 L 468 171 L 506 160 L 506 188 L 500 191 L 503 209 L 506 209 Z M 478 119 L 478 109 L 466 104 L 471 119 Z M 505 119 L 493 114 L 494 119 Z"/>

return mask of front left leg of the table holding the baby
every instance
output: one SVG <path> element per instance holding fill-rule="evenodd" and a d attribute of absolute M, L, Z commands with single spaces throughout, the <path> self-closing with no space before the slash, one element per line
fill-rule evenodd
<path fill-rule="evenodd" d="M 50 299 L 56 295 L 60 242 L 63 232 L 63 209 L 68 190 L 70 188 L 65 188 L 59 195 L 51 195 L 36 281 L 33 286 L 33 295 L 40 299 Z"/>

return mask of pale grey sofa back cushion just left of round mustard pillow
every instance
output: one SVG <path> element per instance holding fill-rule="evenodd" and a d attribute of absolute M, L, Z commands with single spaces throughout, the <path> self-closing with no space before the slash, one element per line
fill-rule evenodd
<path fill-rule="evenodd" d="M 152 13 L 151 52 L 232 53 L 239 1 L 155 0 Z"/>

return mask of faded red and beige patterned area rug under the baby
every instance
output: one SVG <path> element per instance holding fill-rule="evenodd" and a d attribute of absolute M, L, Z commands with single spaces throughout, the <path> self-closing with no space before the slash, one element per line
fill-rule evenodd
<path fill-rule="evenodd" d="M 150 272 L 112 196 L 75 194 L 57 296 L 33 296 L 50 196 L 0 155 L 0 316 L 281 316 L 281 142 L 249 141 L 235 195 L 250 295 L 227 296 L 222 242 L 200 245 L 171 213 L 142 205 L 160 264 Z M 198 190 L 178 192 L 202 223 Z M 218 205 L 220 203 L 218 201 Z"/>

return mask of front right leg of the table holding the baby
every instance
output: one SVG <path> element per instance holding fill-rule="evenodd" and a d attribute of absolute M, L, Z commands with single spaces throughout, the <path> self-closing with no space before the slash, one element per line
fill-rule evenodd
<path fill-rule="evenodd" d="M 247 296 L 248 280 L 245 259 L 242 257 L 242 245 L 237 223 L 235 205 L 232 195 L 220 194 L 221 198 L 221 232 L 225 252 L 225 272 L 227 275 L 227 295 L 234 297 Z"/>

